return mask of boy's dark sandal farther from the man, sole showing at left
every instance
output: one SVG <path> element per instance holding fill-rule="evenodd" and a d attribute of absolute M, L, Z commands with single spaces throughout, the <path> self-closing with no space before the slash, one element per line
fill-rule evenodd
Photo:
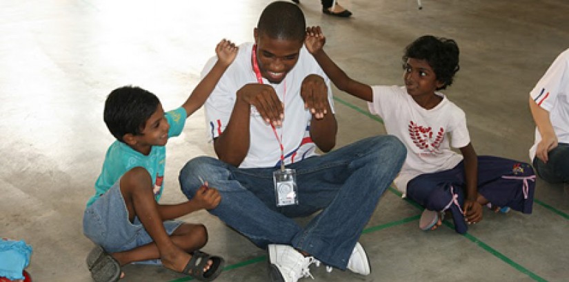
<path fill-rule="evenodd" d="M 95 246 L 86 261 L 91 277 L 96 282 L 116 282 L 121 278 L 121 265 L 101 246 Z"/>

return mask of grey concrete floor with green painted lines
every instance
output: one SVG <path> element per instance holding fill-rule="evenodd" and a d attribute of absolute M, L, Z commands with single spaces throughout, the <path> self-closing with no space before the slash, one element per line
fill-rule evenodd
<path fill-rule="evenodd" d="M 466 111 L 479 155 L 528 161 L 534 124 L 528 91 L 569 47 L 566 0 L 352 0 L 351 19 L 323 15 L 302 0 L 309 25 L 321 25 L 326 50 L 364 83 L 401 85 L 403 47 L 422 34 L 455 39 L 461 70 L 446 94 Z M 0 237 L 23 239 L 34 252 L 34 281 L 91 281 L 92 243 L 81 217 L 112 136 L 103 101 L 132 84 L 181 105 L 226 37 L 252 40 L 270 1 L 0 1 Z M 335 89 L 338 147 L 383 134 L 366 105 Z M 177 176 L 197 155 L 212 155 L 203 110 L 168 143 L 163 203 L 181 202 Z M 537 182 L 534 213 L 495 215 L 457 235 L 417 228 L 421 209 L 388 191 L 361 243 L 372 274 L 315 268 L 315 281 L 569 281 L 569 187 Z M 199 212 L 207 252 L 228 267 L 217 281 L 267 281 L 262 250 Z M 123 281 L 188 281 L 159 267 L 128 265 Z M 310 281 L 310 279 L 304 279 Z"/>

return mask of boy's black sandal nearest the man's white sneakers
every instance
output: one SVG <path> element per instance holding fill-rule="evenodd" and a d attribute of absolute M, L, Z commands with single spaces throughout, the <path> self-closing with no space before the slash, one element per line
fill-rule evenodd
<path fill-rule="evenodd" d="M 212 261 L 212 265 L 208 271 L 203 272 L 203 268 L 208 265 L 208 261 Z M 211 256 L 199 250 L 192 252 L 192 259 L 188 261 L 186 268 L 183 269 L 183 274 L 188 274 L 199 281 L 212 281 L 216 279 L 223 271 L 225 261 L 221 257 Z"/>

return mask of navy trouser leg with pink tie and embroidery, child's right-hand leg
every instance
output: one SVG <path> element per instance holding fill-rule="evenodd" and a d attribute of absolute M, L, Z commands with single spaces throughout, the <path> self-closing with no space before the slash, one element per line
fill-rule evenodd
<path fill-rule="evenodd" d="M 535 173 L 530 164 L 490 155 L 478 157 L 478 202 L 495 209 L 532 213 Z"/>

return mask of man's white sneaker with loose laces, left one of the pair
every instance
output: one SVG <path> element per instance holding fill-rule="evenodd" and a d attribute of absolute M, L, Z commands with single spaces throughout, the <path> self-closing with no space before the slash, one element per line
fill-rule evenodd
<path fill-rule="evenodd" d="M 270 244 L 269 276 L 272 282 L 297 282 L 303 277 L 312 277 L 308 266 L 315 261 L 286 245 Z M 314 279 L 314 277 L 312 277 Z"/>

